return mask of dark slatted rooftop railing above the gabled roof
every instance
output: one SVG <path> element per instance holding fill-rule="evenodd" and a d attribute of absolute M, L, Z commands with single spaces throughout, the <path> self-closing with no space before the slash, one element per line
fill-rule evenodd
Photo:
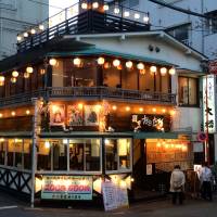
<path fill-rule="evenodd" d="M 39 34 L 29 36 L 24 41 L 17 43 L 17 52 L 24 52 L 63 35 L 141 31 L 149 29 L 150 24 L 89 10 Z"/>

